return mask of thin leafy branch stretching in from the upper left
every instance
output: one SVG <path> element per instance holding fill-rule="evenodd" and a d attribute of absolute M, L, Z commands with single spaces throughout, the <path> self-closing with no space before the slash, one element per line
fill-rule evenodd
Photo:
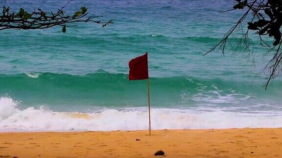
<path fill-rule="evenodd" d="M 64 11 L 64 9 L 69 4 L 69 2 L 70 1 L 68 1 L 68 3 L 64 7 L 58 9 L 56 12 L 45 12 L 40 8 L 30 11 L 26 11 L 24 10 L 24 8 L 21 8 L 19 12 L 11 12 L 10 7 L 3 6 L 2 15 L 0 16 L 0 30 L 45 29 L 59 25 L 63 26 L 62 31 L 65 33 L 67 27 L 77 26 L 75 24 L 70 25 L 71 23 L 94 22 L 102 24 L 102 27 L 105 27 L 110 23 L 114 23 L 113 20 L 95 20 L 97 18 L 101 18 L 102 16 L 87 17 L 89 12 L 84 6 L 71 16 L 65 15 L 66 12 Z"/>

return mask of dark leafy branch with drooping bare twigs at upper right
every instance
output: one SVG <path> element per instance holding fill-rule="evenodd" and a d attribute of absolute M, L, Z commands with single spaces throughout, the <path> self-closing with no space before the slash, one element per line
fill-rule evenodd
<path fill-rule="evenodd" d="M 256 31 L 256 34 L 259 36 L 260 45 L 262 47 L 269 48 L 269 51 L 264 55 L 269 55 L 271 51 L 274 51 L 272 59 L 266 63 L 265 67 L 262 69 L 262 72 L 267 73 L 266 83 L 264 85 L 265 90 L 267 89 L 270 81 L 282 75 L 282 33 L 280 28 L 282 26 L 282 0 L 235 0 L 236 4 L 233 6 L 233 9 L 227 10 L 239 10 L 247 8 L 243 16 L 236 22 L 236 24 L 231 27 L 231 29 L 224 35 L 224 37 L 211 48 L 211 50 L 206 54 L 211 53 L 215 50 L 221 50 L 224 55 L 226 52 L 227 40 L 229 40 L 234 32 L 242 29 L 242 22 L 246 19 L 248 15 L 252 18 L 248 22 L 248 27 L 245 32 L 242 31 L 242 36 L 235 44 L 235 52 L 241 49 L 239 47 L 243 46 L 244 50 L 241 50 L 243 53 L 248 52 L 248 56 L 253 55 L 253 51 L 250 49 L 251 41 L 248 38 L 249 31 Z M 265 42 L 261 36 L 268 36 L 274 39 L 272 46 Z"/>

